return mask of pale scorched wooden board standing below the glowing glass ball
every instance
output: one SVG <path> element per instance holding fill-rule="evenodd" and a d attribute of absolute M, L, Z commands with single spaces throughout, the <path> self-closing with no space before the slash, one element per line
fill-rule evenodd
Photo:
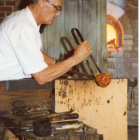
<path fill-rule="evenodd" d="M 55 111 L 71 108 L 104 140 L 127 140 L 127 79 L 112 79 L 106 88 L 92 80 L 56 80 Z"/>

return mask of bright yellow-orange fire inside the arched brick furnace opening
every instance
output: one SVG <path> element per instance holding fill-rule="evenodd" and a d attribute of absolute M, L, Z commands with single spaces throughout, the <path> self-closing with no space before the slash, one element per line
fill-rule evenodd
<path fill-rule="evenodd" d="M 114 47 L 117 44 L 116 29 L 110 24 L 107 24 L 107 44 L 113 44 Z"/>

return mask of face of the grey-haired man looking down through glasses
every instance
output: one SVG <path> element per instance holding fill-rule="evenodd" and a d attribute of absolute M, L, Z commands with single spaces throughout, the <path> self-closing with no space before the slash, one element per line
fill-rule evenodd
<path fill-rule="evenodd" d="M 55 6 L 62 7 L 62 0 L 44 0 L 41 11 L 42 24 L 52 25 L 55 18 L 60 17 L 60 11 Z"/>

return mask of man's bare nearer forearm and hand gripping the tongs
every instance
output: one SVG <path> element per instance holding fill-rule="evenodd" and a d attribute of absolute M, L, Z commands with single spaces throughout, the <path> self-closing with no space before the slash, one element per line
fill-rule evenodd
<path fill-rule="evenodd" d="M 46 69 L 32 74 L 39 85 L 50 82 L 69 71 L 73 66 L 84 61 L 92 53 L 92 48 L 88 41 L 84 41 L 76 46 L 74 54 L 68 59 L 55 65 L 48 66 Z"/>

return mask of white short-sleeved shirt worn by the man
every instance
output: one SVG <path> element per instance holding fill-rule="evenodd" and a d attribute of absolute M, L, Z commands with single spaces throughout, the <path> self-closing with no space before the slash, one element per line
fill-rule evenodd
<path fill-rule="evenodd" d="M 0 81 L 30 78 L 45 69 L 40 26 L 28 7 L 12 13 L 0 25 Z"/>

